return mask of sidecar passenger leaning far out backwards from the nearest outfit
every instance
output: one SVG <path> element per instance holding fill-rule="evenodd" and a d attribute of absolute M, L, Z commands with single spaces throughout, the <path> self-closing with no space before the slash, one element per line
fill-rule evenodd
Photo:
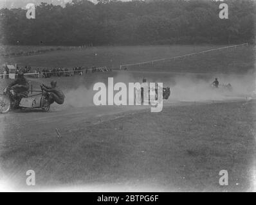
<path fill-rule="evenodd" d="M 57 87 L 56 81 L 51 81 L 51 86 L 46 86 L 42 84 L 42 90 L 44 90 L 44 95 L 46 96 L 46 99 L 48 99 L 48 102 L 50 104 L 53 104 L 53 102 L 56 102 L 57 104 L 63 104 L 65 95 L 60 90 L 59 87 Z"/>

